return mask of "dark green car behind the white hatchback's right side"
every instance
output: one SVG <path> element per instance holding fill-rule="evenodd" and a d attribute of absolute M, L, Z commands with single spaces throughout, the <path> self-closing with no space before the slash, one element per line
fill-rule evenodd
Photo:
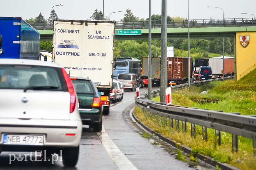
<path fill-rule="evenodd" d="M 100 92 L 98 92 L 92 80 L 88 78 L 70 77 L 70 79 L 76 89 L 78 110 L 82 123 L 89 125 L 89 128 L 93 128 L 93 131 L 101 131 L 103 106 Z"/>

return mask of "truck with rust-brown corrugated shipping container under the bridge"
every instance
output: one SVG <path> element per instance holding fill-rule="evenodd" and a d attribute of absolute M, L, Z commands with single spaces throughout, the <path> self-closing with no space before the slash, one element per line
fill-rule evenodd
<path fill-rule="evenodd" d="M 194 81 L 193 62 L 190 57 L 190 75 L 188 75 L 188 57 L 167 57 L 167 80 L 168 85 L 183 84 Z"/>

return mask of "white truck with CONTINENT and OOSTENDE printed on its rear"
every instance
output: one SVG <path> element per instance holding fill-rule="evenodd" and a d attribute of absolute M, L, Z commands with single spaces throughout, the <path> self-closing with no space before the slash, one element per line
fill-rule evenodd
<path fill-rule="evenodd" d="M 101 92 L 103 113 L 109 114 L 113 90 L 115 21 L 53 21 L 52 58 L 70 76 L 89 77 Z"/>

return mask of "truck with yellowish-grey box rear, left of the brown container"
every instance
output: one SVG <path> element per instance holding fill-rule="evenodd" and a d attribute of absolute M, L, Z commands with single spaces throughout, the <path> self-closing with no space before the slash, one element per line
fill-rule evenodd
<path fill-rule="evenodd" d="M 160 84 L 161 57 L 151 58 L 152 84 Z M 148 57 L 142 57 L 142 75 L 148 76 Z"/>

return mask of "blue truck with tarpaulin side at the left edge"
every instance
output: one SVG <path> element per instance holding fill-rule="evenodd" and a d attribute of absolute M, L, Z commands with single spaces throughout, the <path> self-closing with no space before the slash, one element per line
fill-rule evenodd
<path fill-rule="evenodd" d="M 40 32 L 20 17 L 0 17 L 0 58 L 40 60 Z"/>

